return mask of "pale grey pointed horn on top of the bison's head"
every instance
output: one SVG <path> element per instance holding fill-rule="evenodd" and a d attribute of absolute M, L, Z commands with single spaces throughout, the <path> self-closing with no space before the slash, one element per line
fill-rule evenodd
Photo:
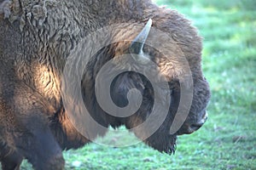
<path fill-rule="evenodd" d="M 144 44 L 148 38 L 149 31 L 152 26 L 152 20 L 149 19 L 146 26 L 144 26 L 143 31 L 141 31 L 137 37 L 131 42 L 131 46 L 129 48 L 131 55 L 137 59 L 138 61 L 142 61 L 143 63 L 147 62 L 149 56 L 143 53 Z"/>

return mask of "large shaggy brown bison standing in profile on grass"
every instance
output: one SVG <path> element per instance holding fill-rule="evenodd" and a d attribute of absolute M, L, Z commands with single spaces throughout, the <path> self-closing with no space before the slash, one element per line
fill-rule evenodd
<path fill-rule="evenodd" d="M 121 29 L 105 32 L 108 44 L 90 54 L 84 65 L 80 94 L 90 114 L 88 119 L 85 116 L 84 130 L 80 131 L 73 122 L 73 116 L 78 115 L 76 109 L 81 105 L 76 103 L 77 96 L 63 98 L 63 92 L 74 86 L 73 82 L 62 81 L 65 69 L 69 71 L 68 59 L 79 54 L 78 51 L 96 47 L 97 39 L 88 38 L 88 35 L 106 26 L 118 25 L 122 25 Z M 152 29 L 164 32 L 170 41 L 154 34 Z M 119 37 L 122 41 L 117 41 Z M 151 46 L 150 42 L 163 47 L 170 56 Z M 87 46 L 83 46 L 84 43 Z M 19 169 L 21 161 L 27 159 L 35 169 L 63 169 L 62 150 L 77 149 L 89 143 L 97 135 L 104 135 L 109 126 L 124 125 L 155 150 L 173 153 L 177 135 L 195 132 L 207 119 L 210 90 L 201 71 L 201 49 L 201 37 L 189 20 L 150 0 L 0 0 L 2 168 Z M 105 111 L 96 98 L 97 74 L 108 61 L 119 59 L 122 54 L 144 65 L 146 73 L 150 72 L 148 62 L 153 62 L 165 78 L 166 94 L 170 96 L 159 95 L 146 76 L 128 70 L 114 77 L 109 94 L 115 105 L 124 108 L 129 105 L 129 91 L 136 88 L 142 95 L 138 110 L 129 116 L 119 116 L 119 111 L 116 115 Z M 119 68 L 132 66 L 125 62 L 115 65 Z M 77 69 L 75 65 L 68 68 Z M 190 82 L 186 81 L 188 75 Z M 155 82 L 156 79 L 158 77 Z M 99 85 L 102 86 L 104 84 Z M 191 105 L 183 105 L 182 91 L 189 90 L 192 92 Z M 160 106 L 153 111 L 156 100 Z M 74 105 L 73 109 L 68 109 L 65 103 Z M 158 114 L 166 105 L 166 116 L 153 133 L 148 135 L 150 128 L 155 127 L 154 121 L 134 130 L 152 114 L 152 120 L 159 119 Z M 177 116 L 179 107 L 182 114 L 188 112 L 183 121 Z M 89 116 L 105 128 L 91 127 L 94 125 L 90 126 Z M 176 116 L 182 124 L 171 133 Z"/>

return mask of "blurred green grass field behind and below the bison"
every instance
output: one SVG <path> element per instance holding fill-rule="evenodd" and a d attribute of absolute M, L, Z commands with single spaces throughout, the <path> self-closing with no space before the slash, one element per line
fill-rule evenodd
<path fill-rule="evenodd" d="M 155 2 L 186 15 L 204 37 L 203 70 L 212 89 L 207 123 L 180 136 L 174 156 L 142 143 L 120 148 L 88 144 L 64 152 L 66 168 L 256 169 L 256 1 Z M 27 168 L 24 162 L 22 169 Z"/>

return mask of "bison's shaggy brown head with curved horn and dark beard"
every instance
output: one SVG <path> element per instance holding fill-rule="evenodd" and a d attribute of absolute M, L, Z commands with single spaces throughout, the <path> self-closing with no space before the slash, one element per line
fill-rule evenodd
<path fill-rule="evenodd" d="M 190 26 L 166 39 L 170 34 L 158 34 L 151 25 L 149 20 L 133 41 L 133 31 L 111 34 L 128 40 L 101 48 L 86 63 L 81 91 L 89 115 L 78 127 L 87 138 L 104 133 L 92 121 L 106 128 L 125 125 L 154 149 L 172 153 L 177 135 L 206 122 L 210 90 L 201 71 L 201 38 Z"/>

